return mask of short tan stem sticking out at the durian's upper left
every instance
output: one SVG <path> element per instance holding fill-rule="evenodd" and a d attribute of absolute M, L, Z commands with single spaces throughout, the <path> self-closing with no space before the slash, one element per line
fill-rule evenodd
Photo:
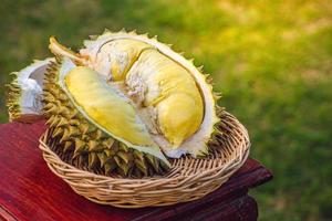
<path fill-rule="evenodd" d="M 81 64 L 86 63 L 86 59 L 75 52 L 73 52 L 72 50 L 63 46 L 62 44 L 60 44 L 56 39 L 54 36 L 50 38 L 50 44 L 49 44 L 49 49 L 51 50 L 51 52 L 55 55 L 62 55 L 62 56 L 68 56 L 69 59 L 79 62 Z"/>

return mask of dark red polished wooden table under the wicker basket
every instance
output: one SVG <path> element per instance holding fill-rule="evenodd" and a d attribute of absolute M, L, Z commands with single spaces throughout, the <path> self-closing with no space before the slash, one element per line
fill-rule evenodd
<path fill-rule="evenodd" d="M 257 220 L 248 190 L 271 172 L 248 159 L 229 181 L 201 200 L 163 208 L 118 209 L 74 193 L 49 170 L 38 148 L 44 122 L 0 125 L 0 220 Z"/>

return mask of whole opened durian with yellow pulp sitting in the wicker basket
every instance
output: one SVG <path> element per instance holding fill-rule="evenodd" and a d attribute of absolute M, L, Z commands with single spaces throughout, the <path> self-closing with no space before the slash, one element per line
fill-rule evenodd
<path fill-rule="evenodd" d="M 167 171 L 169 158 L 205 156 L 218 143 L 210 78 L 168 45 L 106 31 L 79 53 L 53 38 L 50 50 L 43 114 L 50 143 L 71 164 L 152 176 Z"/>

